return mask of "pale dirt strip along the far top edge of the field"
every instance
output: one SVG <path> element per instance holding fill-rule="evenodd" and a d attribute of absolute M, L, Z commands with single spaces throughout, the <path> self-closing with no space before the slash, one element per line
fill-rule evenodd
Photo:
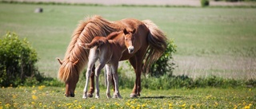
<path fill-rule="evenodd" d="M 200 6 L 200 0 L 12 0 L 16 2 L 62 2 L 62 3 L 88 3 L 111 5 L 155 5 L 155 6 Z M 210 6 L 256 6 L 254 2 L 215 2 L 210 1 Z"/>

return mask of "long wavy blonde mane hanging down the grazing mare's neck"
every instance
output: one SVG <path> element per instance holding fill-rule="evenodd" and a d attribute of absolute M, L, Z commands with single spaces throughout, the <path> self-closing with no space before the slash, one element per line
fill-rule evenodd
<path fill-rule="evenodd" d="M 58 70 L 58 79 L 66 82 L 70 78 L 79 77 L 80 72 L 85 68 L 89 50 L 78 47 L 78 42 L 90 43 L 95 36 L 106 36 L 119 30 L 118 26 L 120 25 L 97 15 L 88 17 L 85 21 L 80 21 L 78 27 L 74 30 L 64 60 L 62 60 L 62 65 Z"/>

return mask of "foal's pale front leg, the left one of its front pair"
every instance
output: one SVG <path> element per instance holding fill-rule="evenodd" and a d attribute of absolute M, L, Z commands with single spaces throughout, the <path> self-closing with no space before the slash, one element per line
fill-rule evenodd
<path fill-rule="evenodd" d="M 111 74 L 111 67 L 109 64 L 106 64 L 106 97 L 108 99 L 111 98 L 110 95 L 110 80 L 112 79 L 112 74 Z"/>

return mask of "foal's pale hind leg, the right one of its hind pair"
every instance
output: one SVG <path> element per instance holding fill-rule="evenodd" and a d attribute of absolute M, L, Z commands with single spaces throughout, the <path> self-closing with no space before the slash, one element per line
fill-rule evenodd
<path fill-rule="evenodd" d="M 98 83 L 98 76 L 101 73 L 102 68 L 104 68 L 106 63 L 100 63 L 95 69 L 95 76 L 96 76 L 96 95 L 95 98 L 99 98 L 99 83 Z"/>

